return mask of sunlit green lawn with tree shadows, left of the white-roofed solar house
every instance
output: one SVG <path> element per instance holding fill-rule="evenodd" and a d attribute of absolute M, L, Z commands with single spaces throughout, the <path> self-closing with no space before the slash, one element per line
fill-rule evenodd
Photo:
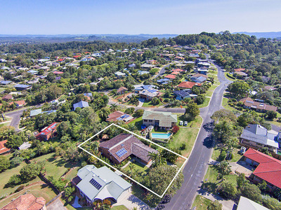
<path fill-rule="evenodd" d="M 46 176 L 53 176 L 55 179 L 59 179 L 67 168 L 78 167 L 79 164 L 72 164 L 70 162 L 65 162 L 62 158 L 54 158 L 55 153 L 50 153 L 48 155 L 43 155 L 39 158 L 34 158 L 31 162 L 44 161 L 46 164 L 44 169 L 46 169 Z M 73 178 L 73 177 L 72 177 Z M 68 177 L 70 179 L 70 177 Z"/>

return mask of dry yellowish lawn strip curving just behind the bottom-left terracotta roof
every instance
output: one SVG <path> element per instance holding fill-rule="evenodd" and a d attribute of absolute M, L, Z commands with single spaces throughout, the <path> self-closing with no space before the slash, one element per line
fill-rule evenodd
<path fill-rule="evenodd" d="M 46 203 L 49 202 L 50 200 L 52 200 L 53 197 L 55 197 L 55 193 L 53 192 L 53 190 L 50 187 L 48 187 L 45 183 L 37 184 L 37 185 L 30 186 L 30 187 L 23 189 L 20 192 L 15 193 L 11 197 L 7 197 L 6 199 L 0 200 L 0 207 L 4 207 L 6 204 L 11 202 L 11 200 L 24 194 L 26 191 L 28 193 L 33 194 L 35 197 L 44 197 L 44 199 L 46 200 Z"/>

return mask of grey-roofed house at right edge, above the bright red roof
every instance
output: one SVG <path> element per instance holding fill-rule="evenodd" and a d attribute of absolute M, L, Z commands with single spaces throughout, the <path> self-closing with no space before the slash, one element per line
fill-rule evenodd
<path fill-rule="evenodd" d="M 279 134 L 269 132 L 265 127 L 256 124 L 249 124 L 240 135 L 240 145 L 247 148 L 268 148 L 271 153 L 276 153 Z"/>

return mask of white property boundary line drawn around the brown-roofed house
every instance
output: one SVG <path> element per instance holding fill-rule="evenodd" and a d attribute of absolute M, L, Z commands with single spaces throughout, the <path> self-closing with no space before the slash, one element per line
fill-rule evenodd
<path fill-rule="evenodd" d="M 139 137 L 139 138 L 141 138 L 141 139 L 144 139 L 144 140 L 146 140 L 146 141 L 149 141 L 150 143 L 155 144 L 155 145 L 159 146 L 160 148 L 164 148 L 164 149 L 166 149 L 167 151 L 169 151 L 170 153 L 174 153 L 175 155 L 178 155 L 178 156 L 180 156 L 181 158 L 184 158 L 184 159 L 185 159 L 185 162 L 183 162 L 183 165 L 181 165 L 181 168 L 178 169 L 178 172 L 176 172 L 176 176 L 178 176 L 178 174 L 181 172 L 181 169 L 183 169 L 183 166 L 184 166 L 185 163 L 188 161 L 188 158 L 183 157 L 183 155 L 180 155 L 180 154 L 178 154 L 178 153 L 175 153 L 174 151 L 171 151 L 171 150 L 165 148 L 164 146 L 161 146 L 161 145 L 159 145 L 159 144 L 156 144 L 155 142 L 150 141 L 149 139 L 145 139 L 145 138 L 139 136 L 138 134 L 135 134 L 135 133 L 133 133 L 133 132 L 131 132 L 131 131 L 129 131 L 129 130 L 126 130 L 124 127 L 121 127 L 121 126 L 119 126 L 119 125 L 116 125 L 115 123 L 112 123 L 112 124 L 108 125 L 108 126 L 105 127 L 103 130 L 101 130 L 100 132 L 98 132 L 98 133 L 96 133 L 95 135 L 93 135 L 93 137 L 96 137 L 98 134 L 100 134 L 101 132 L 107 130 L 107 128 L 111 127 L 112 125 L 115 125 L 116 127 L 119 127 L 119 128 L 121 128 L 122 130 L 125 130 L 126 132 L 129 132 L 130 134 L 135 135 L 136 137 Z M 79 145 L 78 145 L 78 148 L 80 148 L 82 151 L 88 153 L 89 155 L 92 155 L 94 158 L 97 158 L 98 160 L 100 160 L 101 162 L 103 162 L 103 163 L 104 163 L 105 165 L 107 165 L 108 167 L 111 167 L 112 169 L 115 169 L 115 170 L 116 170 L 117 172 L 119 172 L 120 174 L 126 176 L 126 178 L 131 179 L 131 181 L 137 183 L 138 185 L 142 186 L 142 187 L 145 188 L 146 190 L 150 191 L 150 193 L 153 193 L 153 194 L 157 195 L 158 197 L 162 198 L 162 197 L 165 195 L 166 191 L 167 191 L 167 190 L 169 189 L 169 187 L 171 186 L 171 184 L 172 184 L 172 183 L 174 182 L 174 180 L 176 179 L 176 176 L 174 176 L 174 178 L 171 180 L 171 183 L 169 183 L 169 186 L 166 188 L 166 190 L 164 190 L 164 193 L 163 193 L 162 195 L 158 195 L 158 194 L 155 193 L 154 191 L 152 191 L 152 190 L 150 190 L 149 188 L 143 186 L 143 185 L 142 185 L 141 183 L 139 183 L 138 181 L 132 179 L 130 176 L 127 176 L 127 175 L 124 174 L 123 172 L 120 172 L 120 171 L 119 171 L 118 169 L 116 169 L 115 167 L 112 167 L 112 165 L 108 164 L 108 163 L 105 162 L 104 160 L 101 160 L 101 159 L 98 158 L 96 155 L 93 155 L 92 153 L 90 153 L 89 151 L 86 151 L 84 148 L 81 147 L 81 146 L 82 146 L 83 144 L 85 144 L 87 141 L 90 141 L 91 139 L 93 139 L 93 137 L 90 137 L 89 139 L 87 139 L 87 140 L 84 141 L 83 143 L 79 144 Z"/>

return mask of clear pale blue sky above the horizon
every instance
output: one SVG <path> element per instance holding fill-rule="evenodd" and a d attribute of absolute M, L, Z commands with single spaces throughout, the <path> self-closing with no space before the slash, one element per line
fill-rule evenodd
<path fill-rule="evenodd" d="M 0 34 L 281 31 L 280 0 L 0 0 Z"/>

